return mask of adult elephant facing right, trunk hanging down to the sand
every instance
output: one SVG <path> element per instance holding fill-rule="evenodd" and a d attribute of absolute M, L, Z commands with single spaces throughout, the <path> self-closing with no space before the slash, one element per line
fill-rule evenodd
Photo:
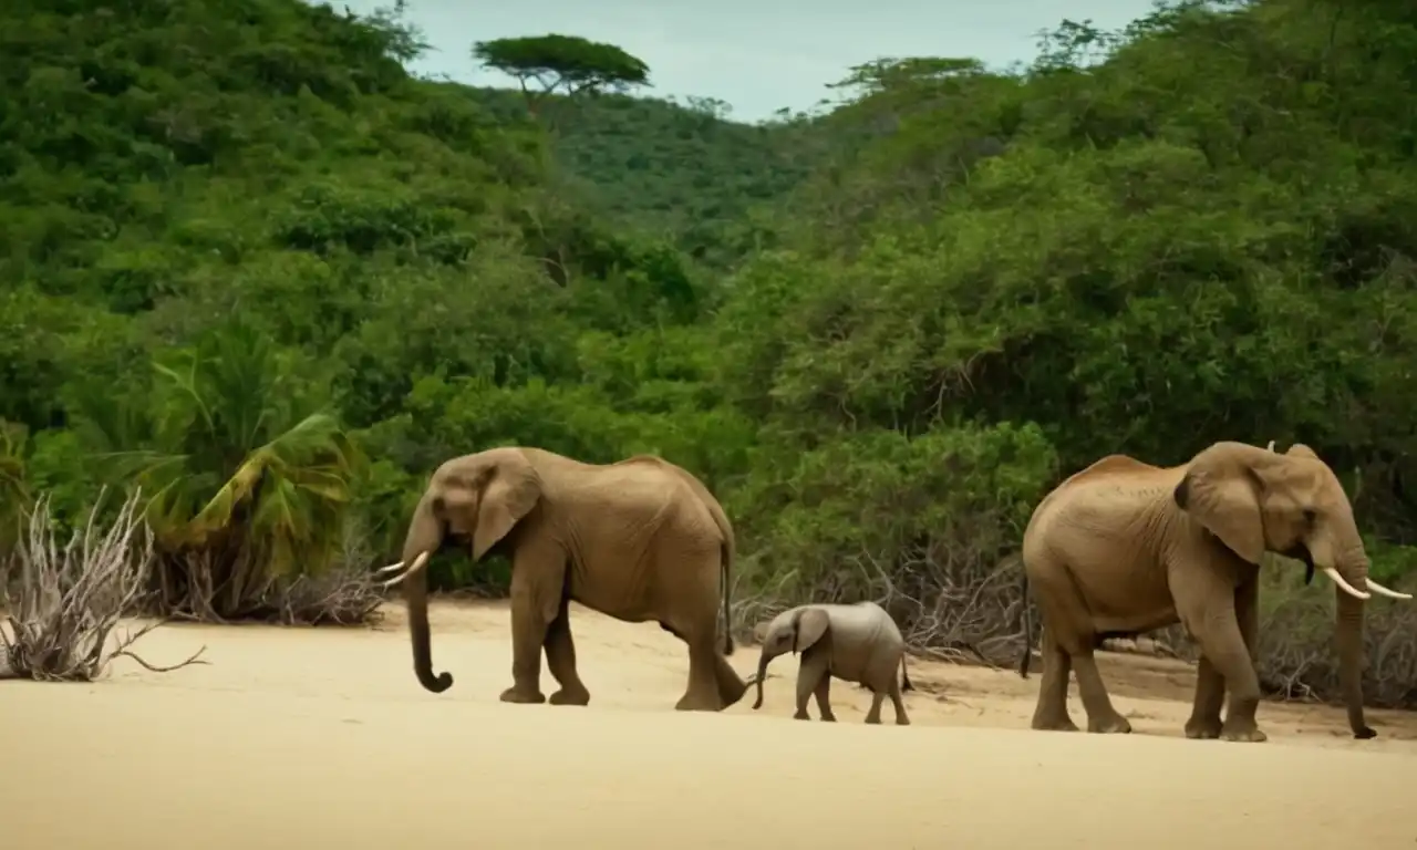
<path fill-rule="evenodd" d="M 1333 470 L 1308 446 L 1272 449 L 1272 442 L 1267 449 L 1217 442 L 1172 468 L 1110 455 L 1039 503 L 1023 536 L 1024 584 L 1043 618 L 1033 728 L 1077 730 L 1067 713 L 1068 672 L 1076 670 L 1088 731 L 1129 732 L 1093 650 L 1111 635 L 1180 622 L 1202 652 L 1186 737 L 1264 741 L 1254 717 L 1254 653 L 1260 558 L 1272 551 L 1304 561 L 1309 577 L 1318 567 L 1333 581 L 1348 720 L 1355 738 L 1377 734 L 1363 721 L 1363 599 L 1370 592 L 1411 596 L 1367 577 L 1353 509 Z M 1027 672 L 1024 647 L 1019 674 Z"/>

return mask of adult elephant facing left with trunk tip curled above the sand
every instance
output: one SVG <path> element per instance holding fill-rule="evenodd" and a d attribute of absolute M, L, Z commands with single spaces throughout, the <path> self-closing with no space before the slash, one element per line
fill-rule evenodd
<path fill-rule="evenodd" d="M 512 679 L 504 703 L 544 703 L 541 650 L 561 686 L 558 706 L 585 706 L 567 608 L 571 601 L 626 622 L 656 620 L 689 645 L 689 687 L 676 708 L 720 711 L 747 686 L 724 659 L 733 526 L 699 479 L 653 456 L 581 463 L 534 448 L 499 448 L 444 462 L 424 490 L 404 557 L 402 582 L 414 673 L 434 693 L 452 686 L 434 674 L 425 567 L 453 538 L 473 561 L 512 558 Z M 717 619 L 723 604 L 724 640 Z"/>

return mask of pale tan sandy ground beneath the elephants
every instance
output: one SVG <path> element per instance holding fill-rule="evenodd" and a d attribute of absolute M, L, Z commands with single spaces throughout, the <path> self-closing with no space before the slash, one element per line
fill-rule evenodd
<path fill-rule="evenodd" d="M 1027 728 L 1037 676 L 911 662 L 914 725 L 673 711 L 683 645 L 572 609 L 585 708 L 507 706 L 502 605 L 436 605 L 444 694 L 418 687 L 402 608 L 377 629 L 171 626 L 95 684 L 0 683 L 0 846 L 708 849 L 1417 847 L 1417 715 L 1261 707 L 1267 744 L 1186 741 L 1193 673 L 1108 654 L 1132 735 Z M 734 666 L 754 669 L 757 647 Z M 554 683 L 543 673 L 543 690 Z M 1076 691 L 1076 687 L 1074 687 Z M 1084 715 L 1073 698 L 1074 718 Z M 812 708 L 815 715 L 815 707 Z"/>

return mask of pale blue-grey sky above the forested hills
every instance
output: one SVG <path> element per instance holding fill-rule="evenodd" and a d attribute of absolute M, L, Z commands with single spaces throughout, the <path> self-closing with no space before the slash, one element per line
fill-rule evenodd
<path fill-rule="evenodd" d="M 393 0 L 330 0 L 367 14 Z M 832 6 L 836 6 L 832 10 Z M 679 10 L 645 0 L 540 0 L 489 3 L 408 0 L 408 18 L 436 50 L 417 60 L 418 74 L 472 85 L 513 85 L 478 67 L 473 41 L 560 33 L 616 44 L 643 60 L 656 96 L 727 101 L 733 118 L 760 120 L 777 109 L 808 109 L 832 92 L 850 65 L 879 57 L 976 57 L 1003 67 L 1032 60 L 1037 31 L 1064 17 L 1124 27 L 1152 0 L 717 0 Z"/>

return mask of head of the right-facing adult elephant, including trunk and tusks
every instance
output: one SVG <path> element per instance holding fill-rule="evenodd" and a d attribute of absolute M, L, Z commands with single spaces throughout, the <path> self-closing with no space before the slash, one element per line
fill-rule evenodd
<path fill-rule="evenodd" d="M 1367 577 L 1367 552 L 1353 506 L 1333 470 L 1312 449 L 1295 443 L 1280 455 L 1238 442 L 1217 442 L 1196 455 L 1173 493 L 1176 504 L 1227 548 L 1251 564 L 1265 551 L 1318 568 L 1335 584 L 1339 680 L 1349 725 L 1363 722 L 1363 601 L 1372 594 L 1411 599 Z"/>

